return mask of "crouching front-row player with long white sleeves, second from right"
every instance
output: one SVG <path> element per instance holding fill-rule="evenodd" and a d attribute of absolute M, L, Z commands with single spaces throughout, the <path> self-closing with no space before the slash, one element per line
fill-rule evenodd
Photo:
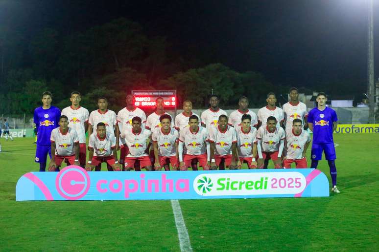
<path fill-rule="evenodd" d="M 257 132 L 258 139 L 258 168 L 267 168 L 265 160 L 271 159 L 275 168 L 282 168 L 282 152 L 284 149 L 285 133 L 282 127 L 277 127 L 274 116 L 267 118 L 266 126 L 261 126 Z"/>

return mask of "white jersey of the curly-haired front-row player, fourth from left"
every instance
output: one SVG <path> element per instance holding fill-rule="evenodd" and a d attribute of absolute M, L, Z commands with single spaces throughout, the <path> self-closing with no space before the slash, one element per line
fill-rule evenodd
<path fill-rule="evenodd" d="M 179 141 L 179 132 L 175 128 L 170 128 L 168 133 L 155 130 L 151 136 L 152 140 L 158 144 L 158 155 L 163 157 L 176 156 L 176 143 Z"/>

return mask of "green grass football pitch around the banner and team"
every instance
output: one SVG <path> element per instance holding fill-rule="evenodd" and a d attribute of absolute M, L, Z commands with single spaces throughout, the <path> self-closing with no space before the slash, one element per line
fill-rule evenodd
<path fill-rule="evenodd" d="M 180 251 L 169 200 L 16 202 L 33 140 L 0 140 L 1 251 Z M 379 134 L 334 140 L 340 194 L 180 200 L 193 251 L 378 251 Z"/>

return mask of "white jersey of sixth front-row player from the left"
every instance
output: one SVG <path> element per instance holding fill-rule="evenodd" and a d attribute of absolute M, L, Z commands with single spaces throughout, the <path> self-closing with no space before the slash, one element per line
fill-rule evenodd
<path fill-rule="evenodd" d="M 237 134 L 234 127 L 227 125 L 225 131 L 220 130 L 220 126 L 209 131 L 209 142 L 214 143 L 215 155 L 226 156 L 232 154 L 232 144 L 237 144 Z"/>

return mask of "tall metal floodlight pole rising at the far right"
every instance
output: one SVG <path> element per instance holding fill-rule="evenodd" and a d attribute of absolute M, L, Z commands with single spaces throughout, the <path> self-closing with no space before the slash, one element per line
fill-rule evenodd
<path fill-rule="evenodd" d="M 368 38 L 367 38 L 367 94 L 369 99 L 369 123 L 375 124 L 375 86 L 374 86 L 374 0 L 368 0 Z"/>

